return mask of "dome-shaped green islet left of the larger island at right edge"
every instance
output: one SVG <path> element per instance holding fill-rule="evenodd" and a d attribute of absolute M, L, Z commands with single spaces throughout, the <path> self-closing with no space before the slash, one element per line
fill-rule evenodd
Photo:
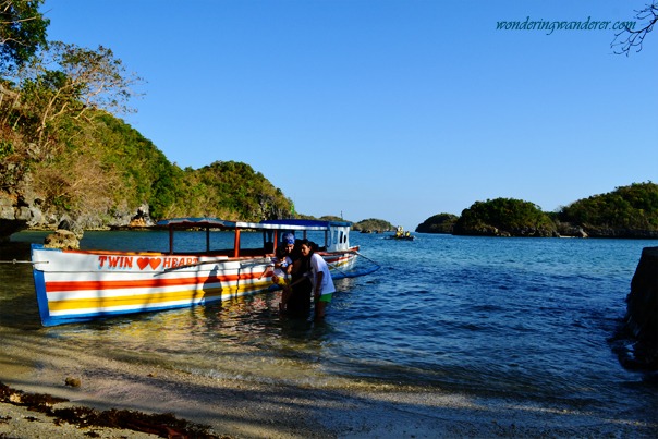
<path fill-rule="evenodd" d="M 537 205 L 514 198 L 476 202 L 454 224 L 454 234 L 551 236 L 555 232 L 555 223 Z"/>

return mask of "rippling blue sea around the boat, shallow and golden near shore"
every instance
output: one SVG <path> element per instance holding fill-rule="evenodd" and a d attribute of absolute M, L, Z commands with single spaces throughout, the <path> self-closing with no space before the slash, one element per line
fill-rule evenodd
<path fill-rule="evenodd" d="M 27 258 L 13 236 L 0 259 Z M 259 236 L 252 239 L 259 240 Z M 191 233 L 187 245 L 203 236 Z M 230 242 L 217 233 L 214 242 Z M 221 305 L 41 328 L 31 267 L 0 265 L 0 333 L 199 377 L 349 388 L 421 386 L 611 416 L 658 406 L 655 378 L 623 369 L 612 337 L 642 248 L 658 241 L 357 234 L 382 268 L 337 282 L 327 321 L 280 318 L 277 293 Z M 87 232 L 83 247 L 166 248 L 159 232 Z M 23 249 L 24 254 L 16 254 Z M 35 353 L 36 355 L 36 353 Z M 3 353 L 0 352 L 0 363 Z"/>

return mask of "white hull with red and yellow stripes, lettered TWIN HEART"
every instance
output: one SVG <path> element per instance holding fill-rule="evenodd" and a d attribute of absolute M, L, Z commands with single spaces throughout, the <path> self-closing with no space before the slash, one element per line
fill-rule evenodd
<path fill-rule="evenodd" d="M 356 252 L 322 257 L 338 279 L 349 277 Z M 102 253 L 33 245 L 32 260 L 44 326 L 203 305 L 272 286 L 267 257 Z"/>

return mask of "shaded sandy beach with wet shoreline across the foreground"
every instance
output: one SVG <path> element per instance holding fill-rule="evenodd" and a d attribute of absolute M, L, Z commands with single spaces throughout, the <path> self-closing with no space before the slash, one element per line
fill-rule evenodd
<path fill-rule="evenodd" d="M 208 426 L 206 437 L 655 438 L 658 434 L 655 407 L 645 407 L 643 413 L 626 410 L 624 404 L 574 408 L 559 399 L 473 397 L 428 389 L 422 382 L 402 386 L 350 379 L 334 387 L 332 381 L 308 383 L 303 379 L 271 383 L 237 375 L 212 378 L 154 362 L 124 362 L 103 357 L 101 352 L 63 350 L 47 338 L 35 341 L 28 334 L 14 334 L 11 340 L 3 340 L 0 382 L 16 392 L 68 400 L 53 403 L 53 410 L 83 406 L 172 414 Z M 40 353 L 39 359 L 31 352 Z M 75 380 L 76 386 L 66 385 L 68 380 Z M 125 428 L 80 427 L 29 411 L 20 401 L 0 401 L 0 438 L 158 437 Z M 168 436 L 176 437 L 175 431 Z"/>

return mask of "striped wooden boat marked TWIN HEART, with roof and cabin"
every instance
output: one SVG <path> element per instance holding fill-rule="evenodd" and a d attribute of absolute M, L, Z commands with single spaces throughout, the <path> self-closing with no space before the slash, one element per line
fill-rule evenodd
<path fill-rule="evenodd" d="M 167 253 L 62 251 L 33 244 L 32 264 L 41 324 L 54 326 L 188 307 L 266 291 L 272 285 L 271 257 L 287 232 L 294 233 L 296 239 L 306 237 L 309 232 L 321 236 L 324 232 L 325 242 L 318 254 L 329 264 L 333 279 L 377 270 L 376 264 L 356 268 L 361 254 L 358 246 L 350 246 L 350 224 L 316 220 L 254 223 L 178 218 L 158 222 L 158 227 L 169 230 Z M 181 229 L 205 230 L 205 251 L 174 252 L 174 232 Z M 211 249 L 211 230 L 232 231 L 233 247 Z M 242 248 L 243 231 L 261 231 L 263 245 Z"/>

